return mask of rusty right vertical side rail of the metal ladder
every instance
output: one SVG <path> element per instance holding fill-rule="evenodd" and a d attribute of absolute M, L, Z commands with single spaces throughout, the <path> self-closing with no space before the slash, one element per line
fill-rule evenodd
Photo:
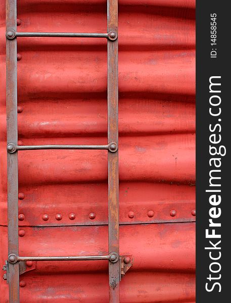
<path fill-rule="evenodd" d="M 107 0 L 108 39 L 108 142 L 118 144 L 118 0 Z M 118 146 L 118 145 L 117 145 Z M 119 256 L 119 170 L 118 149 L 108 152 L 108 237 L 109 252 Z M 119 302 L 120 262 L 109 262 L 109 302 Z"/>

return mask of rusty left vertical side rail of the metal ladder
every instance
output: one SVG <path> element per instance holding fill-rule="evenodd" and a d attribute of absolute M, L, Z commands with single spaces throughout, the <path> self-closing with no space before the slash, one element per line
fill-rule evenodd
<path fill-rule="evenodd" d="M 17 0 L 6 1 L 6 27 L 17 29 Z M 17 123 L 17 40 L 6 41 L 7 142 L 18 143 Z M 8 169 L 8 252 L 18 255 L 18 153 L 7 153 Z M 19 302 L 19 262 L 9 263 L 9 302 Z"/>

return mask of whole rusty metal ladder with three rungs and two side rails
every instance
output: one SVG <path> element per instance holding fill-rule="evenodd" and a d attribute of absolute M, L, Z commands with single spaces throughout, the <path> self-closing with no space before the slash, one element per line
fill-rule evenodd
<path fill-rule="evenodd" d="M 17 32 L 17 0 L 6 2 L 7 150 L 8 150 L 8 282 L 9 303 L 19 303 L 19 262 L 109 261 L 109 302 L 119 302 L 121 260 L 119 255 L 118 174 L 118 0 L 107 0 L 107 33 Z M 18 145 L 17 37 L 99 37 L 108 40 L 108 144 L 106 145 Z M 18 151 L 32 149 L 108 150 L 108 229 L 106 256 L 21 257 L 18 236 Z"/>

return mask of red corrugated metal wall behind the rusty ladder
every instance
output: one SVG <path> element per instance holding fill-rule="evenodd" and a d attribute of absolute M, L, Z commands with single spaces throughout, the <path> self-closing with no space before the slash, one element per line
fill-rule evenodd
<path fill-rule="evenodd" d="M 3 265 L 4 0 L 0 6 Z M 20 0 L 18 31 L 105 32 L 106 14 L 103 0 Z M 106 144 L 107 41 L 17 40 L 19 144 Z M 120 283 L 120 301 L 195 302 L 194 0 L 119 1 L 119 146 L 120 253 L 134 258 Z M 19 199 L 19 214 L 25 217 L 19 221 L 21 255 L 107 254 L 107 151 L 23 151 L 19 192 L 25 196 Z M 92 212 L 95 219 L 89 218 Z M 23 303 L 108 301 L 107 261 L 38 262 L 20 280 Z M 0 281 L 5 303 L 8 285 Z"/>

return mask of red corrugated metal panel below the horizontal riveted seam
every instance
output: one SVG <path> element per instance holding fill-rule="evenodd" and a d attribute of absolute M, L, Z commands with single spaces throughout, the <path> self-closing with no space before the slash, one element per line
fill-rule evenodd
<path fill-rule="evenodd" d="M 120 226 L 120 254 L 133 256 L 133 266 L 120 282 L 120 301 L 151 303 L 163 298 L 166 302 L 195 301 L 194 228 L 195 223 Z M 1 227 L 0 232 L 4 244 L 6 228 Z M 25 227 L 20 253 L 23 256 L 95 251 L 107 254 L 107 237 L 107 226 Z M 21 275 L 20 279 L 26 282 L 24 288 L 20 287 L 22 302 L 27 302 L 28 297 L 31 303 L 94 299 L 108 302 L 108 261 L 37 262 L 36 270 Z M 3 302 L 7 287 L 3 282 Z"/>

